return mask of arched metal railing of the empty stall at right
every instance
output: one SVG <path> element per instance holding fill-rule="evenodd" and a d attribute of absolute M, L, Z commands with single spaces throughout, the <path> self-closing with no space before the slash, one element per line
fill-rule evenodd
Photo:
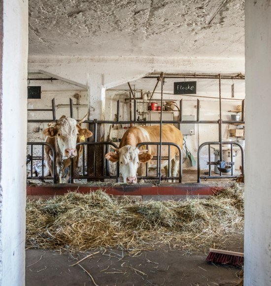
<path fill-rule="evenodd" d="M 237 145 L 241 150 L 241 175 L 234 175 L 234 169 L 231 169 L 231 175 L 223 175 L 220 170 L 220 175 L 212 176 L 211 175 L 211 165 L 215 165 L 216 162 L 211 162 L 211 145 L 221 145 L 221 142 L 205 142 L 201 144 L 201 146 L 198 149 L 198 183 L 201 183 L 201 179 L 207 180 L 207 179 L 227 179 L 227 178 L 243 178 L 244 177 L 244 149 L 238 142 L 229 142 L 229 141 L 222 141 L 222 145 L 224 144 L 230 144 L 231 145 L 231 162 L 233 162 L 233 145 Z M 201 175 L 201 151 L 204 146 L 208 146 L 208 159 L 209 161 L 207 164 L 209 165 L 208 175 Z M 220 147 L 220 160 L 222 160 L 222 147 Z"/>

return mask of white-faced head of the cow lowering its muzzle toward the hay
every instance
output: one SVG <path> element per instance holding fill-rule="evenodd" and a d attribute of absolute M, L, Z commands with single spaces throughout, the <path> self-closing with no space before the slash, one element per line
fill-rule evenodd
<path fill-rule="evenodd" d="M 112 147 L 113 148 L 113 147 Z M 120 172 L 124 183 L 136 183 L 136 171 L 139 162 L 145 163 L 152 159 L 152 155 L 146 153 L 148 150 L 140 150 L 134 146 L 126 145 L 120 149 L 113 148 L 115 152 L 105 154 L 105 158 L 116 162 L 119 161 Z"/>

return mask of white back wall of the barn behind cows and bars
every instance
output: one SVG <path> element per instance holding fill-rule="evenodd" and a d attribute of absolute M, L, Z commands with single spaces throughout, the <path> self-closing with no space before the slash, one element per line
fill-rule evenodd
<path fill-rule="evenodd" d="M 154 82 L 151 79 L 148 81 Z M 244 86 L 241 85 L 239 88 L 239 92 L 236 94 L 235 98 L 239 99 L 231 99 L 231 85 L 232 81 L 222 81 L 223 89 L 222 89 L 222 97 L 226 98 L 222 101 L 222 118 L 223 120 L 231 120 L 230 115 L 233 114 L 228 112 L 229 110 L 236 110 L 237 105 L 241 105 L 241 99 L 244 98 Z M 80 89 L 75 85 L 70 85 L 63 81 L 31 81 L 29 85 L 40 85 L 41 86 L 41 99 L 28 99 L 28 108 L 51 108 L 51 100 L 55 98 L 56 101 L 56 114 L 57 118 L 62 115 L 69 116 L 69 107 L 58 107 L 59 104 L 69 104 L 69 98 L 73 98 L 74 94 L 81 95 L 80 104 L 87 105 L 88 104 L 88 95 L 87 91 L 84 89 Z M 215 85 L 211 91 L 208 89 L 208 86 Z M 171 85 L 170 85 L 171 86 Z M 200 85 L 199 85 L 200 87 Z M 153 88 L 153 87 L 152 87 Z M 168 87 L 169 88 L 169 87 Z M 172 84 L 173 88 L 173 84 Z M 215 89 L 216 88 L 216 89 Z M 209 80 L 209 83 L 205 83 L 205 85 L 200 88 L 198 95 L 206 96 L 206 97 L 197 97 L 195 95 L 186 96 L 186 95 L 172 95 L 172 91 L 166 91 L 164 94 L 164 99 L 175 99 L 179 102 L 180 99 L 183 99 L 183 115 L 194 115 L 195 119 L 197 117 L 197 98 L 201 100 L 201 120 L 218 120 L 219 119 L 219 101 L 217 99 L 217 91 L 218 91 L 218 84 L 217 80 Z M 136 97 L 140 96 L 140 91 L 136 91 Z M 160 105 L 160 93 L 157 92 L 153 96 L 153 101 L 157 101 Z M 215 98 L 210 98 L 216 97 Z M 117 87 L 114 89 L 109 89 L 106 91 L 106 98 L 105 98 L 105 120 L 115 120 L 115 114 L 117 113 L 117 100 L 120 99 L 120 120 L 125 121 L 130 119 L 130 112 L 129 112 L 129 101 L 125 101 L 125 98 L 129 97 L 129 91 L 127 90 L 117 90 Z M 73 98 L 73 103 L 76 104 L 76 100 Z M 133 103 L 132 103 L 133 105 Z M 137 107 L 142 109 L 143 104 L 137 103 Z M 133 109 L 133 106 L 132 106 Z M 74 107 L 74 118 L 82 118 L 87 112 L 87 106 Z M 136 117 L 138 114 L 136 115 Z M 52 118 L 51 112 L 28 112 L 28 119 L 50 119 Z M 100 120 L 99 112 L 95 111 L 93 114 L 94 119 Z M 134 118 L 134 109 L 132 110 L 132 119 Z M 174 119 L 177 119 L 177 112 L 174 114 Z M 105 125 L 105 136 L 104 139 L 107 141 L 108 138 L 111 139 L 112 137 L 118 137 L 119 139 L 122 138 L 124 132 L 127 130 L 123 127 L 129 127 L 130 125 L 123 125 L 122 127 L 115 125 L 114 128 L 111 128 L 110 125 Z M 47 127 L 47 123 L 29 123 L 28 124 L 28 141 L 44 141 L 45 136 L 42 134 L 44 128 Z M 185 136 L 187 141 L 187 146 L 194 156 L 197 159 L 197 150 L 199 145 L 206 141 L 218 141 L 218 125 L 195 125 L 195 135 L 192 136 Z M 223 125 L 223 138 L 227 138 L 227 129 L 229 128 L 228 125 Z M 235 128 L 235 126 L 230 126 L 230 128 Z M 109 135 L 110 130 L 110 136 Z M 230 139 L 236 140 L 235 137 L 229 137 Z M 41 151 L 39 147 L 34 146 L 34 152 L 36 155 L 40 155 Z M 29 150 L 28 150 L 29 153 Z M 207 148 L 203 148 L 202 151 L 202 159 L 201 159 L 201 166 L 204 169 L 208 168 L 206 164 L 208 160 L 207 155 Z M 212 158 L 214 160 L 213 152 Z M 241 164 L 241 156 L 240 152 L 237 154 L 237 161 L 236 161 L 236 169 L 239 168 Z M 184 168 L 191 168 L 188 164 L 188 160 L 183 165 Z M 197 166 L 194 167 L 194 169 Z"/>

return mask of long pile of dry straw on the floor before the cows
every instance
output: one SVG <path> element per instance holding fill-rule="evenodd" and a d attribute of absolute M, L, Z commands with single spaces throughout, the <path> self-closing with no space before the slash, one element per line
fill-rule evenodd
<path fill-rule="evenodd" d="M 103 191 L 69 192 L 27 202 L 26 216 L 29 248 L 110 247 L 135 253 L 167 244 L 204 251 L 220 238 L 242 232 L 243 187 L 179 202 L 114 198 Z"/>

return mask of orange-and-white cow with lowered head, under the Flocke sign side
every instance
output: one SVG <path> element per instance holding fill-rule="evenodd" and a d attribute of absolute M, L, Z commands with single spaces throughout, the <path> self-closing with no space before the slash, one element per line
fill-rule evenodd
<path fill-rule="evenodd" d="M 159 141 L 160 126 L 131 127 L 124 133 L 119 148 L 112 147 L 116 153 L 109 152 L 105 154 L 105 158 L 112 162 L 119 161 L 120 172 L 124 183 L 135 184 L 137 181 L 136 171 L 138 176 L 143 176 L 146 171 L 146 162 L 148 162 L 148 168 L 157 168 L 157 161 L 152 159 L 154 156 L 157 156 L 157 146 L 149 145 L 148 150 L 146 150 L 143 146 L 138 149 L 136 145 L 142 142 Z M 182 148 L 182 132 L 173 125 L 163 125 L 162 142 L 172 142 Z M 169 156 L 168 148 L 168 146 L 162 146 L 162 157 Z M 170 146 L 170 173 L 173 177 L 177 176 L 179 160 L 178 149 L 174 146 Z M 168 160 L 161 160 L 161 168 L 163 167 L 166 174 L 168 174 Z M 143 180 L 140 180 L 140 182 L 143 182 Z"/>

